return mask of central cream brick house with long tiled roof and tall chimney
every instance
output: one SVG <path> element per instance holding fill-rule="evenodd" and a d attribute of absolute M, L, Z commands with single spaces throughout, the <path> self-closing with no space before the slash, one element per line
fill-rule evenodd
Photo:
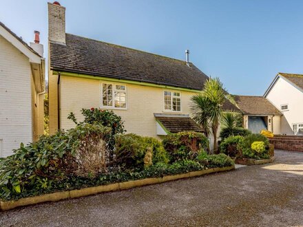
<path fill-rule="evenodd" d="M 112 109 L 141 136 L 201 131 L 190 98 L 209 78 L 193 63 L 67 34 L 58 2 L 48 3 L 48 22 L 50 133 L 74 127 L 68 114 L 82 120 L 91 107 Z M 229 101 L 224 109 L 238 110 Z"/>

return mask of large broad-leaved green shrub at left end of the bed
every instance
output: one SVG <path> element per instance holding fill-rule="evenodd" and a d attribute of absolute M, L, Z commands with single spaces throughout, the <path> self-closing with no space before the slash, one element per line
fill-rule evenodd
<path fill-rule="evenodd" d="M 51 191 L 54 184 L 66 180 L 73 169 L 67 157 L 75 157 L 87 137 L 98 135 L 107 141 L 110 129 L 101 125 L 78 125 L 53 136 L 41 136 L 38 142 L 14 150 L 0 162 L 0 198 L 11 199 Z M 85 145 L 84 145 L 85 146 Z M 70 160 L 70 159 L 68 159 Z"/>

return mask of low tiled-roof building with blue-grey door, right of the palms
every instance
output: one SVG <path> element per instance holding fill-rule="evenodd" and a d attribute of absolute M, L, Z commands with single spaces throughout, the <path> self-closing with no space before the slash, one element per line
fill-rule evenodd
<path fill-rule="evenodd" d="M 243 114 L 243 127 L 253 133 L 281 133 L 282 113 L 263 96 L 233 96 Z"/>

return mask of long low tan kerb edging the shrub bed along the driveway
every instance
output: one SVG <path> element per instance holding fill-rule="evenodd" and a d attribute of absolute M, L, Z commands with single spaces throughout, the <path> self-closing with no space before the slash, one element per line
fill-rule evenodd
<path fill-rule="evenodd" d="M 129 188 L 135 188 L 138 186 L 145 186 L 149 184 L 160 184 L 163 182 L 169 182 L 172 180 L 179 180 L 183 178 L 188 177 L 198 177 L 200 175 L 206 175 L 209 173 L 218 173 L 222 171 L 231 171 L 235 169 L 235 165 L 233 166 L 227 166 L 227 167 L 217 167 L 217 168 L 211 168 L 211 169 L 203 169 L 201 171 L 192 171 L 189 173 L 181 173 L 177 175 L 166 175 L 163 177 L 151 177 L 151 178 L 144 178 L 140 180 L 131 180 L 127 182 L 119 182 L 114 184 L 107 184 L 107 185 L 101 185 L 101 186 L 94 186 L 89 188 L 81 188 L 71 191 L 61 191 L 56 193 L 49 193 L 45 195 L 38 195 L 34 197 L 26 197 L 21 198 L 15 201 L 3 201 L 0 202 L 0 211 L 5 210 L 12 210 L 14 208 L 17 208 L 19 206 L 28 206 L 33 204 L 40 204 L 43 202 L 57 202 L 63 199 L 73 199 L 77 197 L 84 197 L 87 195 L 96 195 L 98 193 L 105 193 L 109 191 L 118 191 L 118 190 L 124 190 Z"/>

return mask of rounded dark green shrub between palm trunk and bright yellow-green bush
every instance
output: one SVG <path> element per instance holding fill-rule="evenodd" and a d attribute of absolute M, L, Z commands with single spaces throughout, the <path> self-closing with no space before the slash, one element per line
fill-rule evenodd
<path fill-rule="evenodd" d="M 242 136 L 229 136 L 220 143 L 220 152 L 230 157 L 236 157 L 240 155 L 238 150 L 238 144 L 242 142 Z"/>

